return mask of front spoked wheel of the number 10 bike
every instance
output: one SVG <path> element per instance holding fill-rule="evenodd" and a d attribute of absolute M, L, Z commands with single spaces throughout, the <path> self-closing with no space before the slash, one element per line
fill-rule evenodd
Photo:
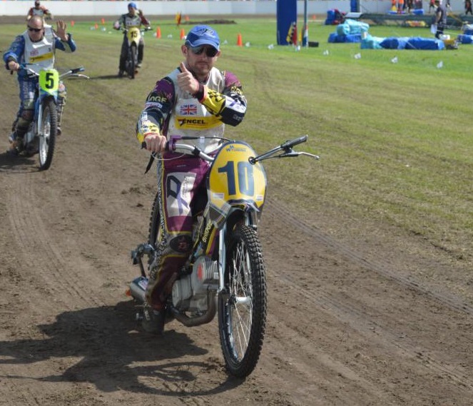
<path fill-rule="evenodd" d="M 228 241 L 225 288 L 218 296 L 218 327 L 230 374 L 246 377 L 260 357 L 266 324 L 266 275 L 260 240 L 238 225 Z"/>

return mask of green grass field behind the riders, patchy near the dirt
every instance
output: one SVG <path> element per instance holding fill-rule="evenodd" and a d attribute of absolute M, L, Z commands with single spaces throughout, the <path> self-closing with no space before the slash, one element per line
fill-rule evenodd
<path fill-rule="evenodd" d="M 82 116 L 89 127 L 109 121 L 110 131 L 136 146 L 133 126 L 148 91 L 182 59 L 180 28 L 170 19 L 151 21 L 145 63 L 134 81 L 115 78 L 121 34 L 111 29 L 112 21 L 69 26 L 78 51 L 58 53 L 58 67 L 83 65 L 91 81 L 68 83 L 68 120 Z M 472 262 L 473 45 L 455 51 L 360 50 L 360 44 L 327 44 L 335 26 L 312 21 L 309 39 L 318 48 L 269 49 L 276 42 L 275 19 L 232 21 L 215 25 L 223 43 L 218 66 L 243 82 L 248 114 L 227 135 L 263 152 L 307 133 L 300 149 L 321 156 L 268 161 L 270 197 L 315 224 L 319 216 L 337 216 L 354 228 L 389 225 L 419 235 L 452 260 Z M 152 35 L 157 27 L 161 39 Z M 23 29 L 1 24 L 1 50 Z M 249 46 L 236 46 L 238 34 Z M 432 36 L 429 29 L 387 26 L 372 26 L 370 34 Z M 1 83 L 11 80 L 2 73 Z M 6 96 L 16 106 L 16 93 Z M 91 98 L 103 110 L 88 111 Z"/>

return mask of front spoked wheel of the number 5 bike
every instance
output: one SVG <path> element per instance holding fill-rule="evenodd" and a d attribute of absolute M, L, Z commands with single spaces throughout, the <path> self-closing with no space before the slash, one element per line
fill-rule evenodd
<path fill-rule="evenodd" d="M 39 170 L 46 171 L 51 166 L 58 132 L 58 112 L 54 100 L 43 101 L 43 115 L 39 126 Z"/>

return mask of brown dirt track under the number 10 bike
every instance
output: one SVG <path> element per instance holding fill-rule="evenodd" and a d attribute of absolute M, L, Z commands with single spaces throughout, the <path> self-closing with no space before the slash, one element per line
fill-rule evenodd
<path fill-rule="evenodd" d="M 71 97 L 51 169 L 10 158 L 17 92 L 4 78 L 15 102 L 0 101 L 0 405 L 472 405 L 472 306 L 419 277 L 464 270 L 416 236 L 342 238 L 346 225 L 323 213 L 287 218 L 271 196 L 253 375 L 225 374 L 216 321 L 173 322 L 160 339 L 138 331 L 124 292 L 154 191 L 142 151 L 125 137 L 118 154 L 108 138 L 90 148 L 108 128 L 92 131 Z"/>

